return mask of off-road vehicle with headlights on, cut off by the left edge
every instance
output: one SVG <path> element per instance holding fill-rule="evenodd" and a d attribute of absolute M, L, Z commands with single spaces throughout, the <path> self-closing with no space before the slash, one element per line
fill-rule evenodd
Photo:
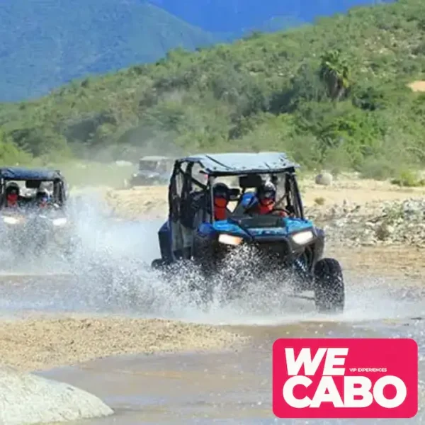
<path fill-rule="evenodd" d="M 0 234 L 4 248 L 33 255 L 54 246 L 69 254 L 74 234 L 67 183 L 58 170 L 0 168 Z"/>

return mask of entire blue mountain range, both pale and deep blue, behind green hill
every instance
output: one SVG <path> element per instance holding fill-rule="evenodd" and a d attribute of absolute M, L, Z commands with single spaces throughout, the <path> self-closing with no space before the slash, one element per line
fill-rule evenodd
<path fill-rule="evenodd" d="M 374 0 L 2 0 L 0 101 Z"/>

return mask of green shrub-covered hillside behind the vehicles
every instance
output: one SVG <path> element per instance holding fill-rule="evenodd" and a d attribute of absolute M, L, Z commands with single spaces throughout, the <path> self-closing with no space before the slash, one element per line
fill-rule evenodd
<path fill-rule="evenodd" d="M 423 0 L 354 8 L 5 104 L 0 157 L 279 149 L 307 169 L 398 178 L 425 163 L 425 94 L 407 87 L 424 73 Z"/>

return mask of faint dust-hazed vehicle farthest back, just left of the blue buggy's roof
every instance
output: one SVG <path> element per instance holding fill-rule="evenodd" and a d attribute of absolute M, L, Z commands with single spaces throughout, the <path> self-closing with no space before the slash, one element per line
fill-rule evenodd
<path fill-rule="evenodd" d="M 168 184 L 174 159 L 169 157 L 142 157 L 139 170 L 130 179 L 130 186 Z"/>

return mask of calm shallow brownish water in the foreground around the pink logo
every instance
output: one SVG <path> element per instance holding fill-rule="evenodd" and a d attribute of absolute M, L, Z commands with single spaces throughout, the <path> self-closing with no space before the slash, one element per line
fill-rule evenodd
<path fill-rule="evenodd" d="M 414 336 L 424 347 L 421 322 L 399 324 L 312 323 L 245 329 L 249 348 L 232 354 L 109 358 L 44 373 L 102 397 L 115 416 L 84 423 L 272 424 L 271 344 L 281 336 Z M 424 370 L 421 368 L 421 379 Z M 421 424 L 414 419 L 385 423 Z M 356 421 L 280 421 L 283 424 L 352 424 Z M 381 422 L 381 421 L 379 421 Z M 365 424 L 378 423 L 368 419 Z"/>

